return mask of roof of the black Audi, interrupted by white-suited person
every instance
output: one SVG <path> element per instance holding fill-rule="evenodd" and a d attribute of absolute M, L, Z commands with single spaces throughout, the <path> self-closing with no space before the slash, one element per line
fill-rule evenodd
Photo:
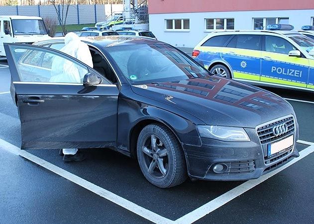
<path fill-rule="evenodd" d="M 161 41 L 157 41 L 152 38 L 145 38 L 139 36 L 126 36 L 126 35 L 117 35 L 117 36 L 89 36 L 89 37 L 80 37 L 80 39 L 84 42 L 87 42 L 96 47 L 105 48 L 105 47 L 113 47 L 113 46 L 125 46 L 125 45 L 133 45 L 133 44 L 156 44 L 162 43 Z M 64 37 L 53 37 L 51 39 L 42 40 L 35 42 L 34 45 L 45 45 L 50 43 L 57 43 L 60 41 L 64 41 Z"/>

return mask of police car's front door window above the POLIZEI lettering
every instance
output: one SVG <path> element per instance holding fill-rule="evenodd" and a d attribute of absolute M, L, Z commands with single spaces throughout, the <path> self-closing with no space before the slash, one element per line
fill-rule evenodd
<path fill-rule="evenodd" d="M 296 48 L 287 40 L 277 36 L 265 36 L 265 51 L 289 54 L 289 51 Z"/>

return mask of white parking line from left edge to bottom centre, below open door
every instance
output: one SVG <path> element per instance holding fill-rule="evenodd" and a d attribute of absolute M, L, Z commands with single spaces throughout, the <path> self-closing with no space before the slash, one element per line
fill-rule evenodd
<path fill-rule="evenodd" d="M 72 181 L 73 183 L 107 199 L 110 202 L 113 202 L 116 205 L 121 206 L 124 209 L 127 209 L 128 211 L 135 213 L 138 216 L 143 217 L 146 220 L 149 220 L 153 223 L 162 223 L 162 224 L 171 224 L 174 223 L 174 221 L 169 220 L 165 217 L 162 217 L 156 213 L 153 213 L 133 202 L 130 202 L 116 194 L 113 194 L 110 191 L 105 190 L 104 188 L 101 188 L 79 176 L 76 176 L 58 166 L 55 166 L 27 151 L 21 150 L 18 147 L 16 147 L 15 145 L 12 145 L 11 143 L 0 139 L 0 146 L 1 148 L 5 149 L 6 151 L 12 152 L 16 155 L 20 155 L 22 157 L 24 157 L 25 159 L 28 159 L 30 161 L 32 161 L 33 163 L 36 163 L 52 172 L 54 172 L 55 174 L 66 178 L 69 181 Z"/>

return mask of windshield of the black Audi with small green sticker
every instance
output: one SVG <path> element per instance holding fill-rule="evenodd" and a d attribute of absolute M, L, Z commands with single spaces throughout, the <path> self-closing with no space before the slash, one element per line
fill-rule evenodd
<path fill-rule="evenodd" d="M 167 44 L 134 44 L 106 50 L 132 85 L 209 76 L 205 68 Z"/>

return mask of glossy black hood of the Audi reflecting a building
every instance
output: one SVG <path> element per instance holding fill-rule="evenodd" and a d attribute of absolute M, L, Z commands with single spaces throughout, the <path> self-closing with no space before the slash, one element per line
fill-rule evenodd
<path fill-rule="evenodd" d="M 294 114 L 292 106 L 275 94 L 216 76 L 132 86 L 132 90 L 212 125 L 255 128 Z"/>

